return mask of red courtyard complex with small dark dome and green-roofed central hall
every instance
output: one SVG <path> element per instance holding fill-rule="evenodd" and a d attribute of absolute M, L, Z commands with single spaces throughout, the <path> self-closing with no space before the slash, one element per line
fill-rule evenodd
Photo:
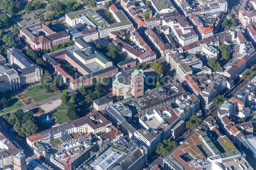
<path fill-rule="evenodd" d="M 72 89 L 91 84 L 93 78 L 98 80 L 118 72 L 111 60 L 83 39 L 78 39 L 72 46 L 44 54 L 43 59 Z M 69 73 L 71 67 L 77 68 L 72 75 Z"/>

